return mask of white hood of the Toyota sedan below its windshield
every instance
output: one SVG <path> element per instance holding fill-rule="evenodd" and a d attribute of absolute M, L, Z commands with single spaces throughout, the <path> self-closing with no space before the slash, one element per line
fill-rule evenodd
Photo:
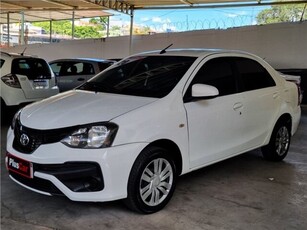
<path fill-rule="evenodd" d="M 26 106 L 22 125 L 34 129 L 55 129 L 110 121 L 156 98 L 72 90 Z"/>

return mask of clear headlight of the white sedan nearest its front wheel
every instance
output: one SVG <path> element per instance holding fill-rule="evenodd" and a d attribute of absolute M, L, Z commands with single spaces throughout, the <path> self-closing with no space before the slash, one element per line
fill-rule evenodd
<path fill-rule="evenodd" d="M 92 124 L 76 129 L 61 143 L 71 148 L 106 148 L 112 145 L 117 130 L 118 126 L 114 123 Z"/>

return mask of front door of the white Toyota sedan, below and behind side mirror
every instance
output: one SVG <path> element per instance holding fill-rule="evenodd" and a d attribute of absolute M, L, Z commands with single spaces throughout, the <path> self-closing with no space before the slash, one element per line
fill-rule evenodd
<path fill-rule="evenodd" d="M 192 78 L 184 96 L 184 106 L 188 120 L 190 168 L 197 168 L 242 150 L 244 105 L 242 94 L 238 93 L 232 58 L 207 58 Z M 219 96 L 194 100 L 191 87 L 196 83 L 215 86 Z"/>

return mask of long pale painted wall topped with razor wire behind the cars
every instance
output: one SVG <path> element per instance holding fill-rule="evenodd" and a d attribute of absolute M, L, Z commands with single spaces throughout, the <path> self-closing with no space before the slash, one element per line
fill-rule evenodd
<path fill-rule="evenodd" d="M 227 30 L 139 35 L 133 37 L 133 53 L 172 48 L 226 48 L 252 52 L 275 68 L 307 68 L 307 22 L 247 26 Z M 25 46 L 3 49 L 22 52 Z M 122 58 L 128 56 L 129 37 L 85 39 L 53 44 L 27 45 L 26 53 L 48 61 L 69 57 Z"/>

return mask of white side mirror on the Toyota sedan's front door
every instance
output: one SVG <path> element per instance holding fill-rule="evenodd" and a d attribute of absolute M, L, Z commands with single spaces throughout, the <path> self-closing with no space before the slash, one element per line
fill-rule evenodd
<path fill-rule="evenodd" d="M 194 100 L 210 99 L 219 95 L 219 90 L 211 85 L 195 84 L 192 85 L 192 97 Z"/>

